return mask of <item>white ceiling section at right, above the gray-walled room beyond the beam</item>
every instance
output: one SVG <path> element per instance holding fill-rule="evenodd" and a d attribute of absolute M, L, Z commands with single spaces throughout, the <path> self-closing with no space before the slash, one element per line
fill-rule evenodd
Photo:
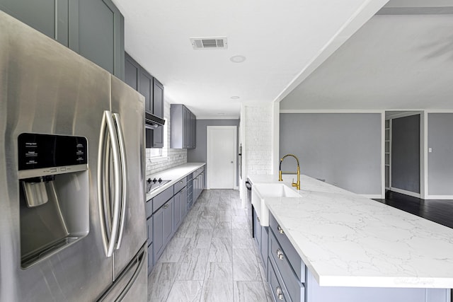
<path fill-rule="evenodd" d="M 447 11 L 374 16 L 280 109 L 453 109 L 453 14 Z"/>

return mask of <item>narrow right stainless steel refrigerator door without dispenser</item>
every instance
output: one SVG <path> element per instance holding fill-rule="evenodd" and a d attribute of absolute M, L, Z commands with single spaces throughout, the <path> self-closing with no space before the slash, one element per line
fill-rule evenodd
<path fill-rule="evenodd" d="M 116 279 L 147 240 L 144 192 L 144 97 L 111 76 L 112 112 L 120 122 L 127 163 L 127 207 L 120 247 L 113 254 Z M 146 296 L 146 293 L 145 293 Z"/>

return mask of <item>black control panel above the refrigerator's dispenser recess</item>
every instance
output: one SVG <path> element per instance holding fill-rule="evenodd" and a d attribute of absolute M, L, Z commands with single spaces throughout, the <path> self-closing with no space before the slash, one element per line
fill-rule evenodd
<path fill-rule="evenodd" d="M 64 173 L 71 165 L 88 163 L 85 137 L 23 133 L 18 137 L 19 170 L 45 169 L 47 173 Z"/>

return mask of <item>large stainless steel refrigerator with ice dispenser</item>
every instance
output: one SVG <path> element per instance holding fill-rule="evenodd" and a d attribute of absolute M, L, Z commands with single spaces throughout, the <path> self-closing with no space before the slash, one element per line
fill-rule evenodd
<path fill-rule="evenodd" d="M 0 301 L 146 301 L 144 97 L 0 28 Z"/>

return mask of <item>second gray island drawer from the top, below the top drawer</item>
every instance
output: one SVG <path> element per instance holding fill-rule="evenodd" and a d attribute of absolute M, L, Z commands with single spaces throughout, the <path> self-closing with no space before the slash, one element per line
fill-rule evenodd
<path fill-rule="evenodd" d="M 299 278 L 294 274 L 291 265 L 286 258 L 282 247 L 278 244 L 273 232 L 269 233 L 269 257 L 275 263 L 275 270 L 280 272 L 283 284 L 288 291 L 289 298 L 292 301 L 301 301 L 304 296 L 304 285 L 299 281 Z"/>

